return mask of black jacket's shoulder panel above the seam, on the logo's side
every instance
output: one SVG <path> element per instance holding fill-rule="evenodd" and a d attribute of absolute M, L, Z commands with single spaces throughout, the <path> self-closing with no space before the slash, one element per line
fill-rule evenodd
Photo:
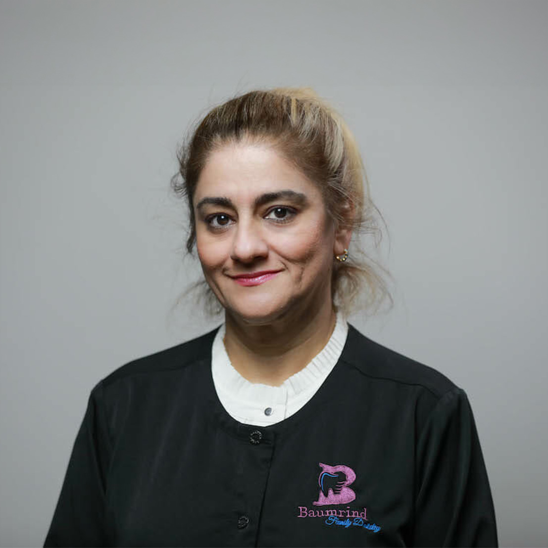
<path fill-rule="evenodd" d="M 434 399 L 461 392 L 443 373 L 375 343 L 351 325 L 341 359 L 369 379 L 423 389 Z"/>

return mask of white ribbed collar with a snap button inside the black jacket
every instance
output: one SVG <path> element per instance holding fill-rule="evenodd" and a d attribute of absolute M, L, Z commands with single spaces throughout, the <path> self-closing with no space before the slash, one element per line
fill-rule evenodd
<path fill-rule="evenodd" d="M 268 426 L 296 413 L 316 393 L 343 352 L 348 324 L 338 312 L 326 346 L 281 386 L 254 384 L 244 379 L 230 363 L 223 343 L 225 333 L 222 324 L 213 341 L 211 362 L 213 383 L 222 406 L 240 423 Z"/>

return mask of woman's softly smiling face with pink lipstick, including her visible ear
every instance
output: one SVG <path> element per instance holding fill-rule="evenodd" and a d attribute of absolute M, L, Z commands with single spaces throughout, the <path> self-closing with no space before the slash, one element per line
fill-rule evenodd
<path fill-rule="evenodd" d="M 196 244 L 209 286 L 234 319 L 272 323 L 331 303 L 336 231 L 321 192 L 267 145 L 214 151 L 198 179 Z"/>

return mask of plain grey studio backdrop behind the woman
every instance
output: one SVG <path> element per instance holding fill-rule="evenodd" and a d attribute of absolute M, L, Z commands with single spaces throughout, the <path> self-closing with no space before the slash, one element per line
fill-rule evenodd
<path fill-rule="evenodd" d="M 43 543 L 92 387 L 220 323 L 172 310 L 200 273 L 186 129 L 307 85 L 390 231 L 393 310 L 351 322 L 466 390 L 501 546 L 546 546 L 547 25 L 544 1 L 0 2 L 0 545 Z"/>

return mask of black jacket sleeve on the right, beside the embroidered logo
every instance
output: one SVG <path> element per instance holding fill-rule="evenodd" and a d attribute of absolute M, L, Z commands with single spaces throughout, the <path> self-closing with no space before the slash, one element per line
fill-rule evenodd
<path fill-rule="evenodd" d="M 487 471 L 472 409 L 447 392 L 420 433 L 414 546 L 498 546 Z"/>

